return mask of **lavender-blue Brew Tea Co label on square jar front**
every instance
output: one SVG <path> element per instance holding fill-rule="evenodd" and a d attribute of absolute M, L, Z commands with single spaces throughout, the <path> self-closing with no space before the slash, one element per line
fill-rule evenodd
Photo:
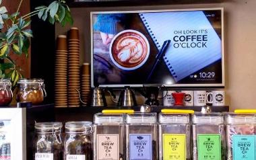
<path fill-rule="evenodd" d="M 152 160 L 152 134 L 129 134 L 130 160 Z"/>

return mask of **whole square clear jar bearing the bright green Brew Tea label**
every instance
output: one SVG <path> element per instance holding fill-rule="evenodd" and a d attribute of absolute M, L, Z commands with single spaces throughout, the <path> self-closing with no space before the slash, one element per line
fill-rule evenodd
<path fill-rule="evenodd" d="M 226 160 L 226 133 L 222 114 L 194 114 L 192 129 L 194 160 Z"/>

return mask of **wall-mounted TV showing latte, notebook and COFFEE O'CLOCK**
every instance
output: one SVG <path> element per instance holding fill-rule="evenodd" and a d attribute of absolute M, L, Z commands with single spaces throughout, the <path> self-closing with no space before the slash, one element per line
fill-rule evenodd
<path fill-rule="evenodd" d="M 223 9 L 91 12 L 92 87 L 224 86 Z"/>

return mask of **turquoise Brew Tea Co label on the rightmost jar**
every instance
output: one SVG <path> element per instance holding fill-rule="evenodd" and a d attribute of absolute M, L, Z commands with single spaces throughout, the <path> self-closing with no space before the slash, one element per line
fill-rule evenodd
<path fill-rule="evenodd" d="M 234 135 L 233 136 L 233 159 L 255 159 L 255 136 Z"/>

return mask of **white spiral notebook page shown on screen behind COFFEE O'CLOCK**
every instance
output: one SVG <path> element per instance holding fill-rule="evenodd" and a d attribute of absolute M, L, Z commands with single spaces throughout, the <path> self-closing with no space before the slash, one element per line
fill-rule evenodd
<path fill-rule="evenodd" d="M 165 40 L 171 40 L 163 58 L 176 82 L 222 58 L 220 37 L 203 11 L 151 12 L 139 16 L 158 50 Z"/>

